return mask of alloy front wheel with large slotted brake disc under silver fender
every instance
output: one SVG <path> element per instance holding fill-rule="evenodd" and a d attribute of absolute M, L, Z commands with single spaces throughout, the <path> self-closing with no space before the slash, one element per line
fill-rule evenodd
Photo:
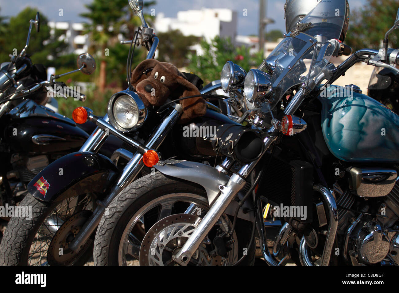
<path fill-rule="evenodd" d="M 156 172 L 134 181 L 109 205 L 97 229 L 95 265 L 176 265 L 174 255 L 209 210 L 199 185 Z M 252 224 L 223 214 L 189 265 L 252 264 L 255 247 L 246 248 Z"/>

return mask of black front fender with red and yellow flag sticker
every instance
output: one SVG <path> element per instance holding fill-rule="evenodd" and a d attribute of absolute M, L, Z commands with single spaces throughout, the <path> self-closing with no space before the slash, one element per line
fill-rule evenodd
<path fill-rule="evenodd" d="M 118 168 L 104 155 L 69 153 L 40 171 L 28 184 L 28 192 L 46 203 L 84 193 L 106 193 L 118 175 Z"/>

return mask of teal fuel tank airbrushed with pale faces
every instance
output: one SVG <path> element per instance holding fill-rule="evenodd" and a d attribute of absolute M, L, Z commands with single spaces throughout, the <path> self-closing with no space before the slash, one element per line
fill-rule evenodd
<path fill-rule="evenodd" d="M 399 116 L 373 98 L 349 87 L 330 86 L 322 103 L 324 140 L 331 153 L 347 162 L 399 162 Z"/>

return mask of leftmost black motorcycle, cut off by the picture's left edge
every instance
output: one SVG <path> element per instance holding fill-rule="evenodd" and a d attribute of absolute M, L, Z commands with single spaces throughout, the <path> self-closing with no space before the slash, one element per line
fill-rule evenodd
<path fill-rule="evenodd" d="M 56 96 L 73 96 L 81 101 L 86 99 L 84 94 L 55 79 L 77 71 L 93 73 L 93 57 L 87 53 L 79 55 L 77 70 L 51 76 L 47 81 L 45 67 L 33 64 L 26 53 L 33 25 L 39 32 L 39 13 L 35 20 L 30 20 L 24 49 L 18 56 L 10 55 L 11 62 L 2 63 L 0 67 L 0 214 L 4 226 L 12 215 L 8 212 L 9 208 L 14 208 L 28 193 L 28 183 L 49 163 L 79 150 L 89 138 L 86 131 L 91 132 L 95 128 L 89 123 L 77 126 L 73 120 L 55 112 L 57 108 L 49 108 L 54 104 L 51 100 L 56 102 Z M 64 88 L 68 91 L 61 90 Z M 104 149 L 111 155 L 111 150 L 119 147 L 120 143 L 113 138 Z"/>

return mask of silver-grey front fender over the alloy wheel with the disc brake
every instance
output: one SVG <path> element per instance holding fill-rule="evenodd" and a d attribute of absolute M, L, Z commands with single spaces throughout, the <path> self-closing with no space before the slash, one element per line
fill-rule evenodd
<path fill-rule="evenodd" d="M 154 166 L 154 168 L 164 175 L 201 185 L 206 191 L 209 206 L 213 205 L 219 196 L 219 185 L 225 186 L 230 179 L 229 176 L 209 165 L 190 161 L 182 161 L 179 163 L 166 163 L 164 161 L 160 161 Z M 239 199 L 242 199 L 244 194 L 240 191 L 238 193 L 238 197 Z M 237 201 L 232 201 L 225 210 L 225 213 L 234 216 L 237 205 Z M 244 208 L 247 208 L 251 211 L 248 213 L 243 213 Z M 249 200 L 245 201 L 244 205 L 240 208 L 237 217 L 253 222 L 253 203 Z"/>

